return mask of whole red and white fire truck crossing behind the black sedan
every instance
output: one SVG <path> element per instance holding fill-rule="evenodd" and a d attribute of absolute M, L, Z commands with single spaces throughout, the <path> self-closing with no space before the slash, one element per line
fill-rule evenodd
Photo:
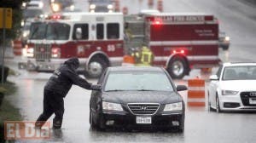
<path fill-rule="evenodd" d="M 128 40 L 125 28 L 131 30 Z M 106 67 L 121 66 L 129 49 L 142 45 L 153 52 L 154 66 L 182 78 L 191 68 L 218 65 L 218 20 L 210 14 L 55 14 L 32 23 L 26 65 L 52 71 L 77 56 L 80 71 L 99 77 Z"/>

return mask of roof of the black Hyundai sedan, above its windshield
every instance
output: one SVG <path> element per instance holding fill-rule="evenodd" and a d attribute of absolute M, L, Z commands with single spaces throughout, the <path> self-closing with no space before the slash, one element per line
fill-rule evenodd
<path fill-rule="evenodd" d="M 108 72 L 164 72 L 161 67 L 153 66 L 113 66 L 108 67 Z"/>

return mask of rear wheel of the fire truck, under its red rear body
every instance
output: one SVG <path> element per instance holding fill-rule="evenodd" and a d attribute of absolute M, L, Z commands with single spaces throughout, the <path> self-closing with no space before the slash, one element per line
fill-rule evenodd
<path fill-rule="evenodd" d="M 170 60 L 170 63 L 167 67 L 172 78 L 181 79 L 185 76 L 187 70 L 186 62 L 182 57 L 175 57 Z"/>

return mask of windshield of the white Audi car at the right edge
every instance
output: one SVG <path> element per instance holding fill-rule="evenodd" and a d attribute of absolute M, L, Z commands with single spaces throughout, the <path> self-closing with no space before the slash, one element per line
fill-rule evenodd
<path fill-rule="evenodd" d="M 223 80 L 255 80 L 256 66 L 230 66 L 224 68 Z"/>

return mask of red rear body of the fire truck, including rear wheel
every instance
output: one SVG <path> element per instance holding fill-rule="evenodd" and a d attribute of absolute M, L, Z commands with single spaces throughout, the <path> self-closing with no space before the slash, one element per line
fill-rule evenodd
<path fill-rule="evenodd" d="M 210 14 L 150 14 L 144 18 L 145 41 L 154 65 L 182 78 L 192 68 L 218 66 L 218 20 Z"/>

